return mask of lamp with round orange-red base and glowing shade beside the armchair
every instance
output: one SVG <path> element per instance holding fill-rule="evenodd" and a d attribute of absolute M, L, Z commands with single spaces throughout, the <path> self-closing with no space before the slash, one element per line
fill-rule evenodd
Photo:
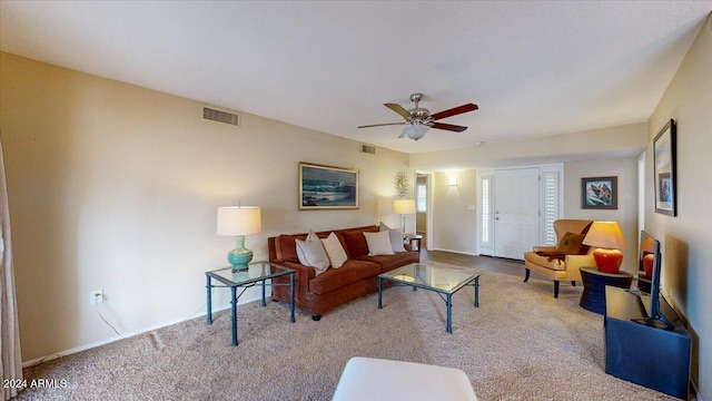
<path fill-rule="evenodd" d="M 623 263 L 623 252 L 627 244 L 623 238 L 621 227 L 615 222 L 593 222 L 583 244 L 594 246 L 593 257 L 596 266 L 604 273 L 617 273 Z"/>

